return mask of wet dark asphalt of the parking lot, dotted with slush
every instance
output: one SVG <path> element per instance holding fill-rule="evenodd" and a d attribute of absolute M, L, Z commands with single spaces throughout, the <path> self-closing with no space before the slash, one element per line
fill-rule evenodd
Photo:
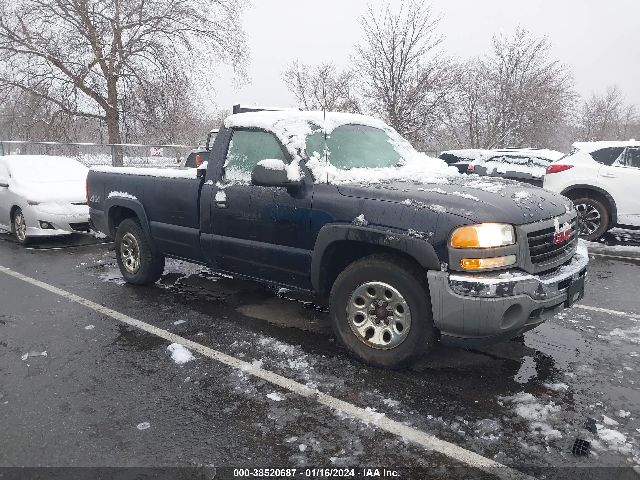
<path fill-rule="evenodd" d="M 0 468 L 0 478 L 226 479 L 234 468 L 308 478 L 313 467 L 508 475 L 392 435 L 376 426 L 383 413 L 538 478 L 640 479 L 640 250 L 611 253 L 638 260 L 602 256 L 640 244 L 638 233 L 600 242 L 580 301 L 622 313 L 569 308 L 483 351 L 438 347 L 408 371 L 351 358 L 322 299 L 177 260 L 157 284 L 135 287 L 106 244 L 23 249 L 0 234 L 1 266 L 375 409 L 364 423 L 198 353 L 177 364 L 171 342 L 0 272 L 0 467 L 70 467 Z M 591 441 L 587 458 L 573 456 L 576 438 Z"/>

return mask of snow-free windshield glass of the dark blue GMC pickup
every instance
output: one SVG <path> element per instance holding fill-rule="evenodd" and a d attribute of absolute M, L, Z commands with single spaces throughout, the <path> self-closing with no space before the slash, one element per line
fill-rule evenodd
<path fill-rule="evenodd" d="M 326 135 L 329 163 L 340 170 L 396 166 L 401 156 L 389 143 L 389 136 L 366 125 L 342 125 Z M 325 135 L 322 131 L 307 136 L 307 157 L 318 152 L 324 157 Z"/>

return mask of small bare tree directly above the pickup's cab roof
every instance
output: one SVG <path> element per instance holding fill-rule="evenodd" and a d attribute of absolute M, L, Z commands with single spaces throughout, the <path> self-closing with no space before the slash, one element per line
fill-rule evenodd
<path fill-rule="evenodd" d="M 294 60 L 280 72 L 280 78 L 305 110 L 330 110 L 360 113 L 360 100 L 353 91 L 353 72 L 338 71 L 333 63 L 312 69 Z"/>

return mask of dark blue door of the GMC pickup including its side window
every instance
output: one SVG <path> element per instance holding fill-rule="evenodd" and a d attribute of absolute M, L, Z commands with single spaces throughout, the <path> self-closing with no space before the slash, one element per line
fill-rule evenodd
<path fill-rule="evenodd" d="M 253 167 L 268 158 L 291 162 L 273 134 L 234 129 L 211 195 L 214 258 L 232 274 L 310 289 L 313 180 L 301 164 L 301 188 L 253 185 Z"/>

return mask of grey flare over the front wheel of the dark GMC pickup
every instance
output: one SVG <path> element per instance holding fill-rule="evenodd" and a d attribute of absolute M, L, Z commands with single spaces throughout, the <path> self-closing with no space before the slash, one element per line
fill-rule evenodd
<path fill-rule="evenodd" d="M 348 225 L 344 223 L 329 223 L 324 225 L 316 237 L 316 244 L 311 260 L 311 285 L 318 294 L 323 294 L 324 275 L 326 267 L 324 257 L 330 246 L 338 241 L 356 241 L 385 246 L 406 253 L 415 259 L 423 268 L 440 270 L 440 259 L 428 241 L 410 237 L 404 233 L 391 230 Z"/>

